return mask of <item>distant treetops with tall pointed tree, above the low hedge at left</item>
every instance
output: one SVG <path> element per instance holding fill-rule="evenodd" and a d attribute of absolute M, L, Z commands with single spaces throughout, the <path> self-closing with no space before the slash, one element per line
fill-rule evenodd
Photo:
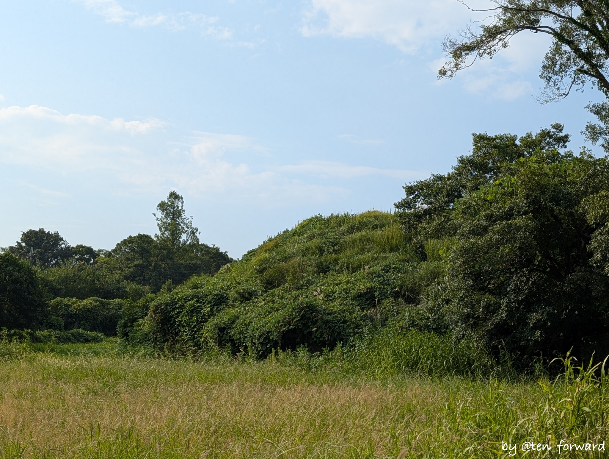
<path fill-rule="evenodd" d="M 199 241 L 199 230 L 176 191 L 157 210 L 155 237 L 132 235 L 110 251 L 71 246 L 58 232 L 41 228 L 23 232 L 7 252 L 40 268 L 51 296 L 81 300 L 138 299 L 167 282 L 179 285 L 194 274 L 212 275 L 232 261 L 219 247 Z"/>

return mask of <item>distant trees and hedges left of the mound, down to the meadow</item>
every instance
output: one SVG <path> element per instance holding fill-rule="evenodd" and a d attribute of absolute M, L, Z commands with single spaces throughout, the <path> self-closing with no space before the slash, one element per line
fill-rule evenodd
<path fill-rule="evenodd" d="M 175 191 L 157 206 L 158 233 L 114 249 L 71 246 L 58 232 L 23 232 L 0 255 L 0 328 L 82 329 L 116 335 L 122 308 L 232 259 L 199 240 Z"/>

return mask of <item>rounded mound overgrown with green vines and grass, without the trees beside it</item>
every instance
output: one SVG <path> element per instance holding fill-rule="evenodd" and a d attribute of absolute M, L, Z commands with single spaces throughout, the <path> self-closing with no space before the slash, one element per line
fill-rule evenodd
<path fill-rule="evenodd" d="M 441 269 L 436 245 L 409 240 L 391 213 L 314 216 L 214 277 L 141 301 L 122 335 L 173 351 L 219 346 L 257 357 L 348 343 L 389 318 L 415 316 Z"/>

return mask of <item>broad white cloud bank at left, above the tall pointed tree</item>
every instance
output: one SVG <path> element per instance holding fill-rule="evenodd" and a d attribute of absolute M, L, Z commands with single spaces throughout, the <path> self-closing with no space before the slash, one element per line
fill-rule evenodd
<path fill-rule="evenodd" d="M 231 162 L 236 152 L 268 155 L 242 135 L 196 132 L 170 142 L 157 120 L 62 115 L 38 105 L 0 109 L 0 163 L 46 169 L 60 180 L 85 177 L 115 193 L 163 193 L 177 187 L 223 202 L 267 206 L 325 202 L 350 193 L 280 170 L 254 171 L 247 163 Z"/>

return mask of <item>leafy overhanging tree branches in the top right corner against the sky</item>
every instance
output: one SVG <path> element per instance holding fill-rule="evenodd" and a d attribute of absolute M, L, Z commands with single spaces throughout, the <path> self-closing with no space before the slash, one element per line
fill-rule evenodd
<path fill-rule="evenodd" d="M 605 100 L 586 107 L 600 124 L 589 123 L 586 136 L 609 151 L 609 2 L 606 0 L 491 0 L 482 10 L 487 21 L 447 37 L 450 60 L 440 77 L 452 78 L 477 59 L 492 58 L 520 32 L 549 35 L 552 44 L 541 64 L 542 103 L 565 98 L 573 89 L 592 84 Z"/>

